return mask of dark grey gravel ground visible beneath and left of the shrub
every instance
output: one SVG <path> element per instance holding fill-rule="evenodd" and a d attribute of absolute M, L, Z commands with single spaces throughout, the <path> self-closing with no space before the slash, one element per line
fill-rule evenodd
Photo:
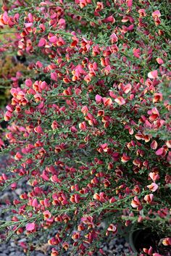
<path fill-rule="evenodd" d="M 0 174 L 4 173 L 5 166 L 7 165 L 7 157 L 0 157 Z M 7 191 L 0 191 L 0 220 L 10 220 L 8 212 L 2 213 L 1 211 L 7 207 L 7 200 L 12 201 L 17 198 L 18 195 L 23 192 L 23 184 L 19 184 L 18 189 L 12 191 L 11 189 Z M 108 241 L 109 238 L 105 238 L 105 240 L 100 244 L 99 249 L 103 249 L 106 256 L 125 256 L 130 255 L 130 247 L 129 244 L 125 241 L 124 238 L 114 238 Z M 26 253 L 23 252 L 22 247 L 20 246 L 21 242 L 25 242 L 25 238 L 21 238 L 18 240 L 11 239 L 10 241 L 4 242 L 0 244 L 0 256 L 50 256 L 49 247 L 45 244 L 44 247 L 37 248 L 36 251 Z M 60 256 L 70 255 L 70 252 L 66 252 Z M 96 253 L 94 256 L 98 256 Z M 76 256 L 76 255 L 74 255 Z"/>

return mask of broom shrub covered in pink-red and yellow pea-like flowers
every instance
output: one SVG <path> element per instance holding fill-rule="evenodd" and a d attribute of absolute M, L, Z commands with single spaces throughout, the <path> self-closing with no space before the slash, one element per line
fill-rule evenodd
<path fill-rule="evenodd" d="M 2 231 L 54 230 L 51 256 L 103 255 L 99 241 L 120 222 L 143 223 L 169 246 L 167 1 L 17 0 L 2 10 L 17 38 L 1 51 L 32 59 L 4 113 L 12 166 L 0 178 L 30 191 Z"/>

